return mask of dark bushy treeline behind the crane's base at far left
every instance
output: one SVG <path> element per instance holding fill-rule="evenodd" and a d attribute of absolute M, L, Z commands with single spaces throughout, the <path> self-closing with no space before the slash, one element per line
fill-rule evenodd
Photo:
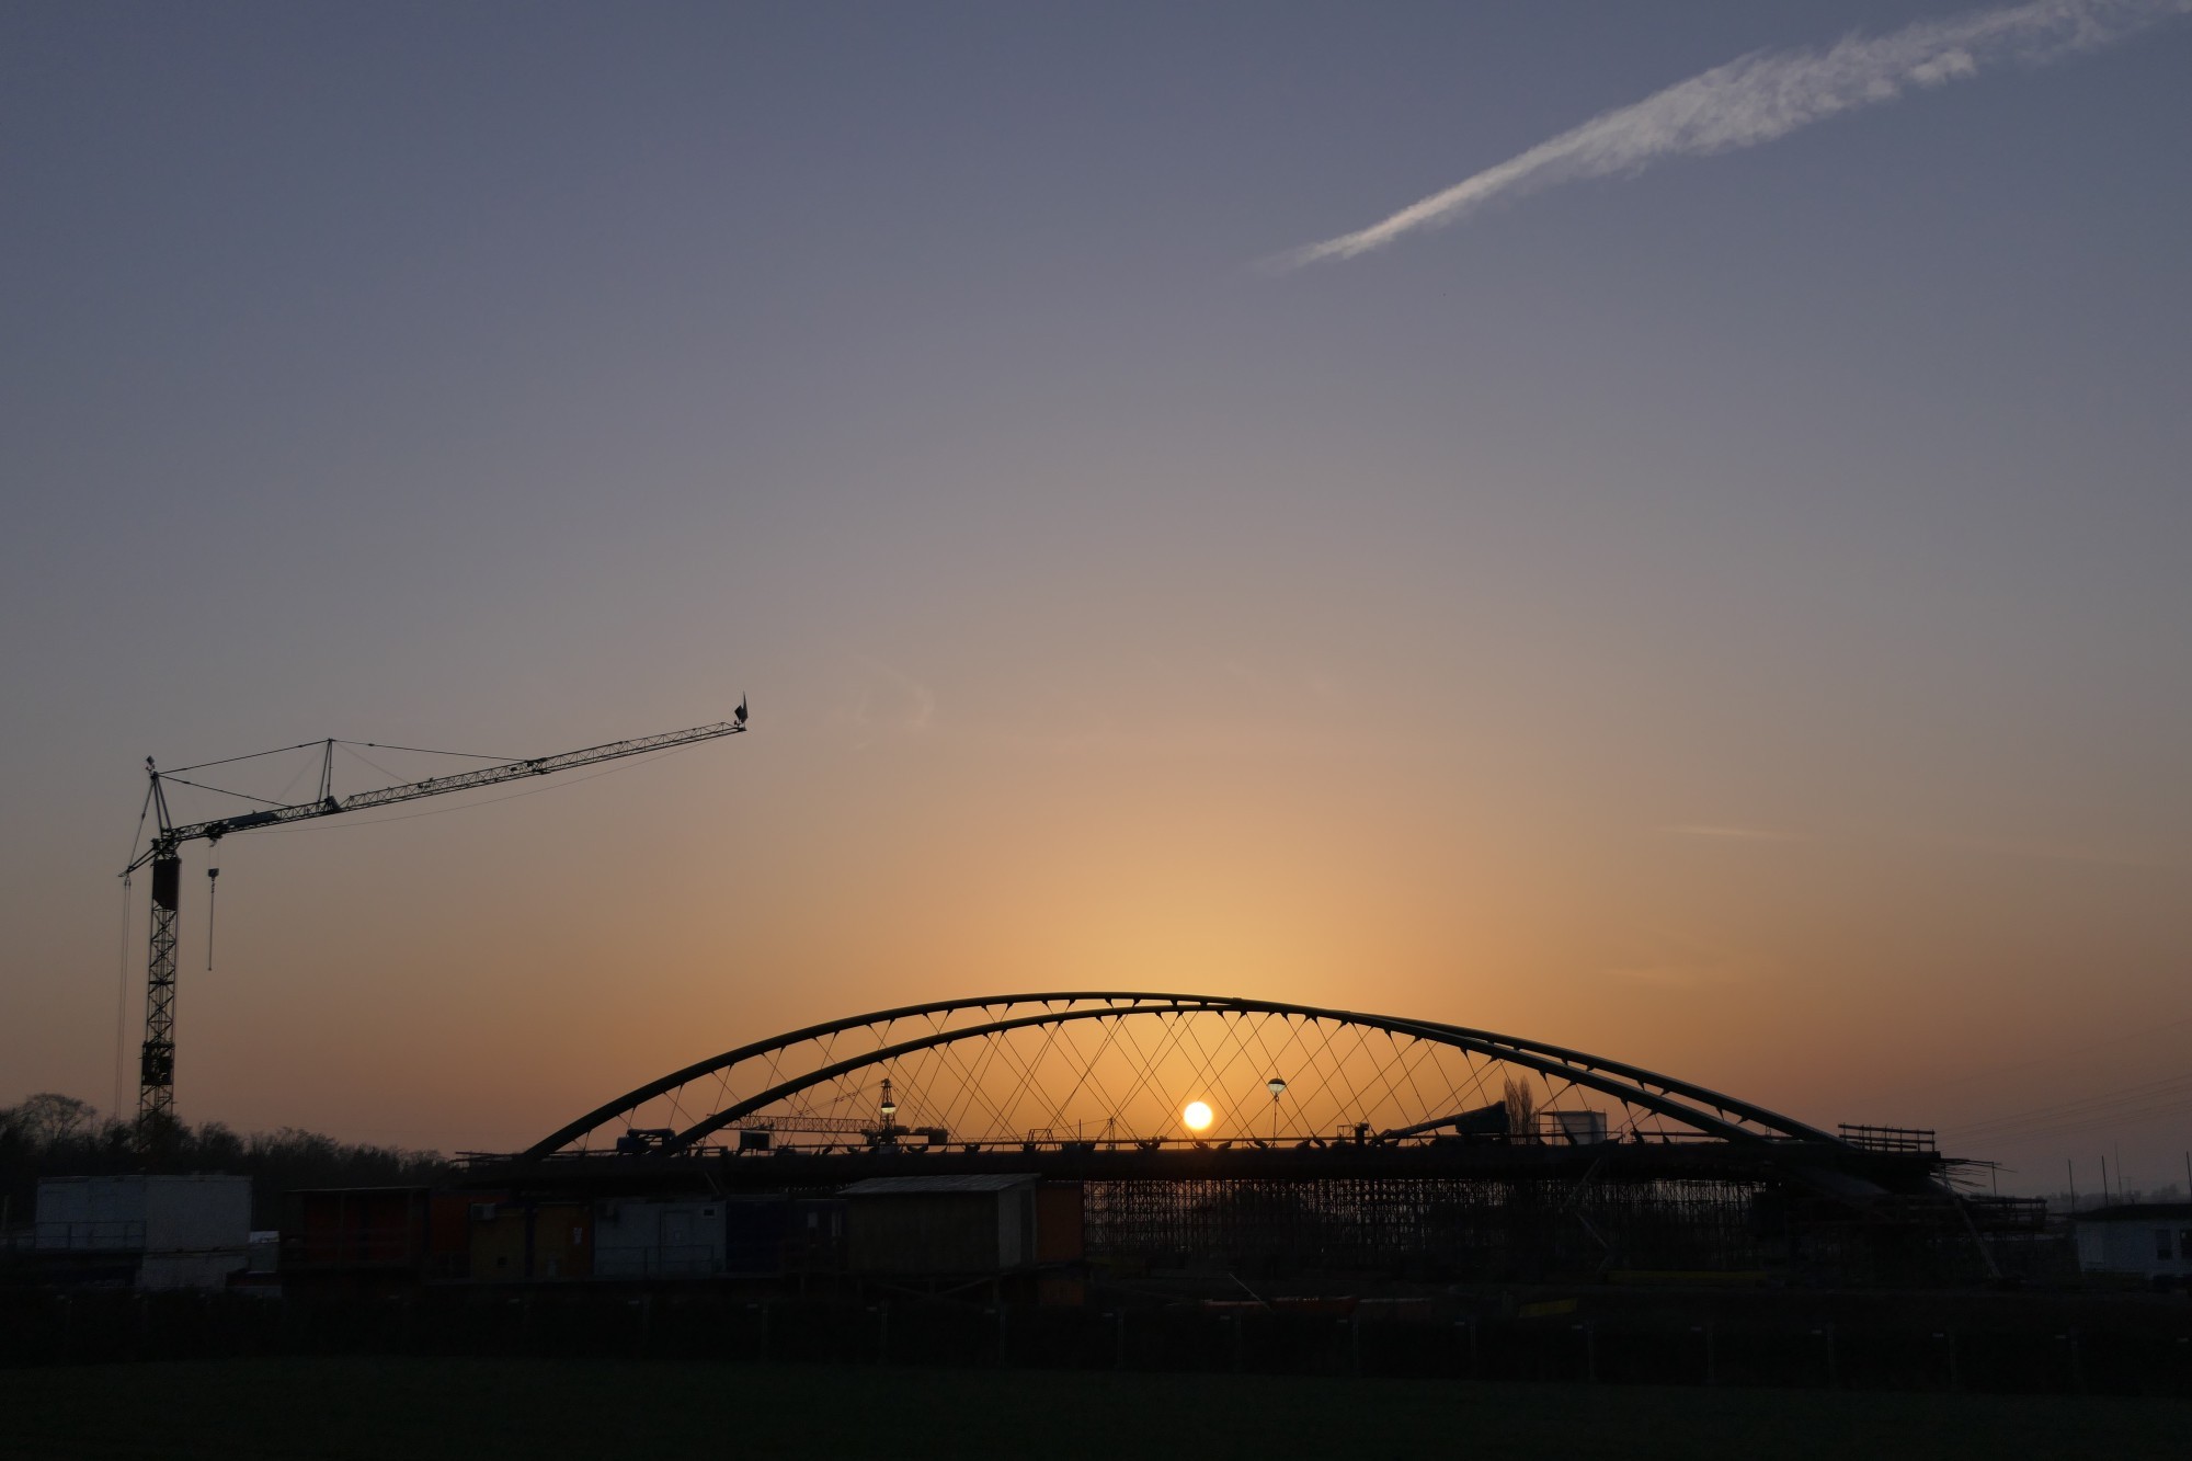
<path fill-rule="evenodd" d="M 129 1121 L 103 1119 L 90 1101 L 35 1095 L 0 1108 L 0 1198 L 7 1224 L 33 1220 L 48 1176 L 219 1171 L 252 1180 L 252 1226 L 278 1228 L 283 1193 L 298 1187 L 421 1187 L 447 1176 L 441 1152 L 351 1145 L 285 1125 L 239 1134 L 219 1121 L 167 1123 L 140 1149 Z"/>

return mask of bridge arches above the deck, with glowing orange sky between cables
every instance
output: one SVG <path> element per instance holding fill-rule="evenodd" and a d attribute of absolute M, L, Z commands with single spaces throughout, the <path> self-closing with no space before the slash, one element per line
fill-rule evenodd
<path fill-rule="evenodd" d="M 522 1156 L 1605 1143 L 1813 1158 L 1872 1145 L 1442 1020 L 1072 989 L 901 1005 L 756 1040 L 627 1090 Z"/>

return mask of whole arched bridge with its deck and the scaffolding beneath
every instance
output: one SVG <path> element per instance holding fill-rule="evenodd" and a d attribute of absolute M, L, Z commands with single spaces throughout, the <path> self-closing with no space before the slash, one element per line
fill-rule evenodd
<path fill-rule="evenodd" d="M 1841 1272 L 1874 1248 L 1966 1261 L 1977 1228 L 1951 1171 L 1927 1132 L 1828 1132 L 1447 1020 L 1061 989 L 741 1044 L 478 1158 L 469 1180 L 528 1200 L 804 1202 L 864 1178 L 1032 1176 L 1081 1189 L 1092 1257 L 1512 1277 Z"/>

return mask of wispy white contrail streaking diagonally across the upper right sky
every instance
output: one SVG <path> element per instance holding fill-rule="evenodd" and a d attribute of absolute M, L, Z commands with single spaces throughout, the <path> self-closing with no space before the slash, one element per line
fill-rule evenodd
<path fill-rule="evenodd" d="M 1637 173 L 1659 158 L 1758 147 L 1797 127 L 1894 101 L 1909 88 L 1944 86 L 1982 66 L 2045 66 L 2098 50 L 2192 11 L 2192 0 L 2034 0 L 2001 11 L 1927 20 L 1890 35 L 1848 35 L 1828 50 L 1754 50 L 1677 81 L 1635 105 L 1602 112 L 1574 132 L 1412 202 L 1388 219 L 1271 259 L 1278 270 L 1352 259 L 1416 228 L 1451 224 L 1495 197 Z"/>

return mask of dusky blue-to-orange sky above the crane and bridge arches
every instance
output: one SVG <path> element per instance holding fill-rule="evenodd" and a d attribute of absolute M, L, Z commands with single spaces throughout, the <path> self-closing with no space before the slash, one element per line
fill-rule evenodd
<path fill-rule="evenodd" d="M 2181 11 L 7 7 L 0 1103 L 145 757 L 750 695 L 193 845 L 178 1112 L 1192 989 L 2181 1187 Z"/>

